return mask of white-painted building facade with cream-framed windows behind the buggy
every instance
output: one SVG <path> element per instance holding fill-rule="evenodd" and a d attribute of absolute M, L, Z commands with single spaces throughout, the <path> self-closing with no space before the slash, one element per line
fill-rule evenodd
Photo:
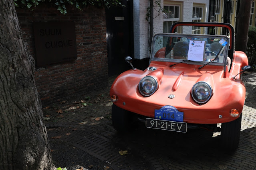
<path fill-rule="evenodd" d="M 154 0 L 154 2 L 156 2 Z M 207 22 L 209 0 L 160 0 L 154 3 L 155 33 L 169 33 L 175 22 Z M 134 58 L 149 57 L 149 22 L 146 20 L 149 0 L 133 0 Z M 184 34 L 206 34 L 207 29 L 184 26 L 175 30 Z"/>

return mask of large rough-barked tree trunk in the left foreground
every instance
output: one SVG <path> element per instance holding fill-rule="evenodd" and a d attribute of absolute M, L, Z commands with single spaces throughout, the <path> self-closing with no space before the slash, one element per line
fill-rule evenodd
<path fill-rule="evenodd" d="M 52 158 L 14 2 L 0 0 L 0 169 L 50 170 Z"/>

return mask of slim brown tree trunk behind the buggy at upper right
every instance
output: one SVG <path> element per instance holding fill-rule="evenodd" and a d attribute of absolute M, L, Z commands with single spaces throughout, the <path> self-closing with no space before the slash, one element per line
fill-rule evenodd
<path fill-rule="evenodd" d="M 252 0 L 241 0 L 237 15 L 237 32 L 235 38 L 235 49 L 237 51 L 247 50 L 248 30 L 250 25 L 250 12 Z"/>

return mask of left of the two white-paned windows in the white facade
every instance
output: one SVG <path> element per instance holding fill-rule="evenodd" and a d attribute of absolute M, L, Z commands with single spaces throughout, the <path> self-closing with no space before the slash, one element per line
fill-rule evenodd
<path fill-rule="evenodd" d="M 169 33 L 171 25 L 180 20 L 179 11 L 179 6 L 163 6 L 163 32 Z"/>

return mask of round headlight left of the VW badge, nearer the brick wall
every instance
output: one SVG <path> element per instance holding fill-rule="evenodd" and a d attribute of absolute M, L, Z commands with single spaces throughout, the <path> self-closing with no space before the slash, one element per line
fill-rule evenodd
<path fill-rule="evenodd" d="M 143 77 L 139 82 L 139 92 L 145 97 L 148 97 L 155 93 L 157 87 L 157 80 L 150 75 Z"/>

